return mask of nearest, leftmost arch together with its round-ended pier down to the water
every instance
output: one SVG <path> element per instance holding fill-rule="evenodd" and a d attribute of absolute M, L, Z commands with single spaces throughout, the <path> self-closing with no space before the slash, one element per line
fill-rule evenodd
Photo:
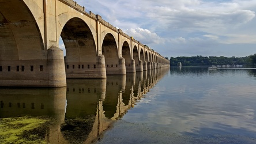
<path fill-rule="evenodd" d="M 43 17 L 42 9 L 35 1 L 1 2 L 1 86 L 66 86 L 62 51 L 44 46 L 44 19 L 39 15 Z"/>

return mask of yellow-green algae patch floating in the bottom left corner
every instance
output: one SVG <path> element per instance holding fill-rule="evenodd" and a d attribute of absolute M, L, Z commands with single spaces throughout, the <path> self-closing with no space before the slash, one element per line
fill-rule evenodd
<path fill-rule="evenodd" d="M 0 119 L 0 143 L 46 143 L 48 122 L 32 116 Z"/>

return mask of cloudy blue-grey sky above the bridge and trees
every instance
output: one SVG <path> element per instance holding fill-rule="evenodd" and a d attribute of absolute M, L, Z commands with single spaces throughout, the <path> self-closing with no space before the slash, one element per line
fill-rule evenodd
<path fill-rule="evenodd" d="M 256 0 L 76 0 L 160 55 L 256 53 Z"/>

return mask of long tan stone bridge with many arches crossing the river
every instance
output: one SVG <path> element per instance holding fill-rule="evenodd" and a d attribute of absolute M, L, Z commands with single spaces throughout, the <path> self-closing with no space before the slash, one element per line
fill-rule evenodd
<path fill-rule="evenodd" d="M 0 0 L 0 86 L 61 87 L 169 63 L 72 0 Z"/>

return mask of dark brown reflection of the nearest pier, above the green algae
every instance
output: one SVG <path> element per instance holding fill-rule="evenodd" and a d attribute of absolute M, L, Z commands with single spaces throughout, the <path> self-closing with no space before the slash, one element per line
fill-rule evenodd
<path fill-rule="evenodd" d="M 46 141 L 60 143 L 64 139 L 59 134 L 64 122 L 66 109 L 66 88 L 0 88 L 0 118 L 18 116 L 49 116 L 54 119 L 45 132 Z"/>

